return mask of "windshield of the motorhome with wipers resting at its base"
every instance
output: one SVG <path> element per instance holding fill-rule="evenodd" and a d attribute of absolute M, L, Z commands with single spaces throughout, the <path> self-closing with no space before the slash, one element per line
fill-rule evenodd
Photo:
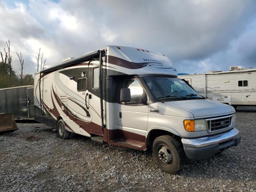
<path fill-rule="evenodd" d="M 198 95 L 186 82 L 179 78 L 164 76 L 143 76 L 142 79 L 148 86 L 155 99 L 197 99 Z"/>

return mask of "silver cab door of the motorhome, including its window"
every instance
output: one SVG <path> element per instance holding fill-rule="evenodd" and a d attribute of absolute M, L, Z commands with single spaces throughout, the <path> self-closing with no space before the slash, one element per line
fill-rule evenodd
<path fill-rule="evenodd" d="M 118 104 L 117 118 L 118 129 L 124 134 L 135 133 L 145 135 L 148 124 L 148 105 L 141 102 L 145 92 L 137 78 L 124 81 L 122 88 L 129 88 L 131 102 Z"/>

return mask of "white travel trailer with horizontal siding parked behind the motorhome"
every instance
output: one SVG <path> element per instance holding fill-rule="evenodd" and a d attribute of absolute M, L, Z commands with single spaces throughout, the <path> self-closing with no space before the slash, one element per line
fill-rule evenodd
<path fill-rule="evenodd" d="M 178 76 L 198 94 L 217 102 L 236 106 L 256 106 L 256 69 L 231 66 L 230 71 Z"/>

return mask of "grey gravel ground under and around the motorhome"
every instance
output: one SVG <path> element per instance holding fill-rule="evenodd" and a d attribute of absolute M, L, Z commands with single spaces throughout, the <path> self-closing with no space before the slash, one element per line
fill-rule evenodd
<path fill-rule="evenodd" d="M 18 123 L 0 135 L 0 191 L 256 191 L 256 107 L 238 107 L 241 144 L 176 175 L 156 167 L 150 151 L 59 139 L 50 127 Z"/>

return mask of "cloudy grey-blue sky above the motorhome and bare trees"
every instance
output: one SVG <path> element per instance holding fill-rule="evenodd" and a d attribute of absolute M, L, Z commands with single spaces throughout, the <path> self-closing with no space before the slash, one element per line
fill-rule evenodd
<path fill-rule="evenodd" d="M 166 54 L 180 73 L 256 68 L 255 0 L 5 0 L 0 50 L 10 39 L 14 70 L 37 70 L 107 45 Z"/>

